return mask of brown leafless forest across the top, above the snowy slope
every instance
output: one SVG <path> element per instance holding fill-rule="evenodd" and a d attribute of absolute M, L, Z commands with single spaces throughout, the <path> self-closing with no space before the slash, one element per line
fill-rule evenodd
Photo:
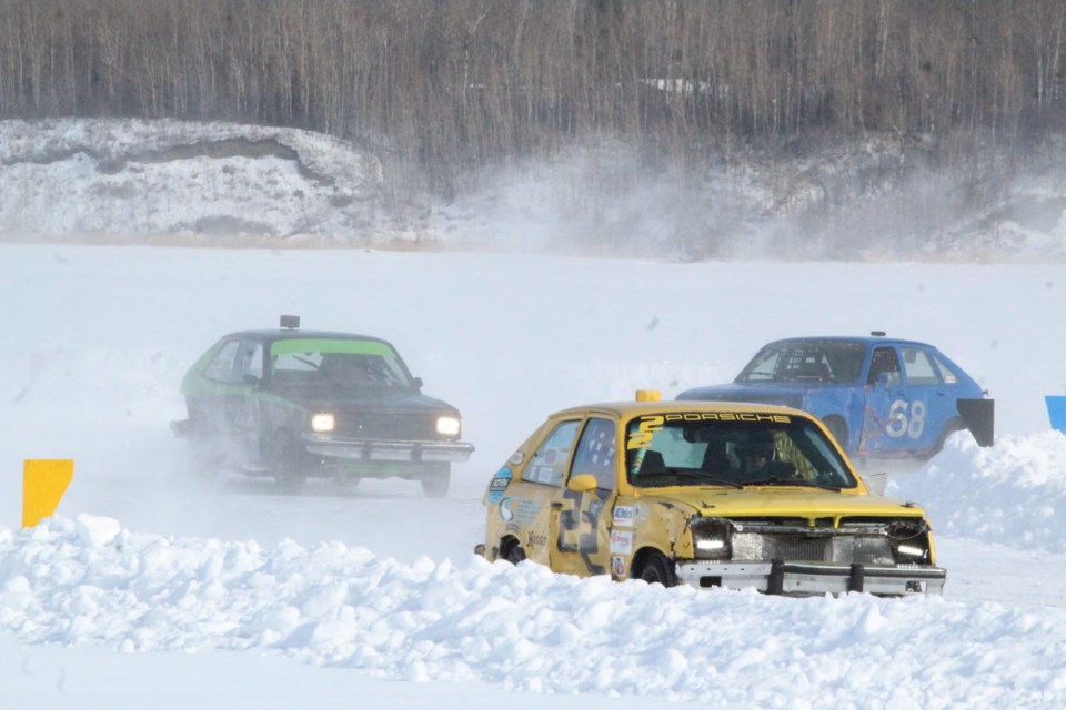
<path fill-rule="evenodd" d="M 1063 0 L 0 0 L 0 118 L 321 131 L 428 186 L 609 134 L 650 162 L 1066 125 Z"/>

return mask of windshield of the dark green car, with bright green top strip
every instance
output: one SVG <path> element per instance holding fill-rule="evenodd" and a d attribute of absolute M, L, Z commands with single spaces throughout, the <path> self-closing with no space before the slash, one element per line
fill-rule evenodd
<path fill-rule="evenodd" d="M 344 389 L 410 389 L 414 382 L 386 343 L 360 339 L 286 339 L 270 346 L 270 376 L 279 385 Z"/>

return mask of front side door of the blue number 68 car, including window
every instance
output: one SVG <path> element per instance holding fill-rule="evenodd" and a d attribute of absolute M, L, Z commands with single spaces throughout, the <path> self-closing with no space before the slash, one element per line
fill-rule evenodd
<path fill-rule="evenodd" d="M 863 433 L 858 450 L 878 454 L 905 450 L 911 403 L 903 386 L 903 373 L 895 347 L 877 345 L 873 348 L 864 394 Z"/>

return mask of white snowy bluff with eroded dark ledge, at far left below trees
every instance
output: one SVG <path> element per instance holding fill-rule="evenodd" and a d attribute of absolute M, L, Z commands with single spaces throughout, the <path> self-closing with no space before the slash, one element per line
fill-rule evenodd
<path fill-rule="evenodd" d="M 22 239 L 360 244 L 386 231 L 380 161 L 232 123 L 0 121 L 0 232 Z"/>

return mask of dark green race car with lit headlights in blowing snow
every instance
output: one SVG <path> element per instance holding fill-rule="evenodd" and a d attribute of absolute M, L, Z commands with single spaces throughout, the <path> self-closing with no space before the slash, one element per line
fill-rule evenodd
<path fill-rule="evenodd" d="M 400 477 L 444 496 L 451 464 L 474 450 L 459 410 L 422 394 L 390 343 L 299 325 L 227 335 L 185 374 L 188 418 L 171 428 L 195 468 L 272 477 L 285 493 L 309 477 Z"/>

